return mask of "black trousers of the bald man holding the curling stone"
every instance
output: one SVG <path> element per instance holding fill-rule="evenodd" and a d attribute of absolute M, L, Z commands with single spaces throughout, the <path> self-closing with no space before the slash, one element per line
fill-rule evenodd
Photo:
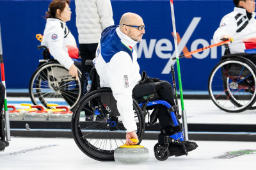
<path fill-rule="evenodd" d="M 138 90 L 144 92 L 145 88 L 143 88 L 143 85 L 144 84 L 136 85 L 133 89 L 133 92 L 138 91 Z M 148 95 L 150 93 L 154 93 L 154 91 L 145 91 L 145 95 Z M 172 106 L 175 105 L 173 88 L 172 88 L 172 84 L 170 84 L 170 82 L 160 81 L 160 88 L 157 91 L 157 93 L 159 95 L 160 100 L 165 100 Z M 175 132 L 175 130 L 173 130 L 174 124 L 172 121 L 172 117 L 171 117 L 170 113 L 167 111 L 166 106 L 159 105 L 158 107 L 159 107 L 158 120 L 159 120 L 159 125 L 161 127 L 161 134 L 159 134 L 159 140 L 163 141 L 164 135 L 171 135 L 171 134 L 173 134 L 173 132 Z"/>

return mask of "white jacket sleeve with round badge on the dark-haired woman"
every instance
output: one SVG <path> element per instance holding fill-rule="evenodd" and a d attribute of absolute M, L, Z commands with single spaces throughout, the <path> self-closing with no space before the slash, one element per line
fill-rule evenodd
<path fill-rule="evenodd" d="M 61 65 L 69 69 L 74 63 L 68 56 L 68 52 L 63 49 L 64 31 L 61 27 L 49 26 L 46 27 L 43 42 L 47 41 L 47 47 L 54 59 L 56 59 Z M 45 40 L 44 40 L 45 39 Z"/>

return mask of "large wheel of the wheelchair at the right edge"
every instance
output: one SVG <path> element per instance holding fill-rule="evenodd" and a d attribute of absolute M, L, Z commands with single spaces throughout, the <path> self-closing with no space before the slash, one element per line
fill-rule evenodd
<path fill-rule="evenodd" d="M 214 104 L 227 112 L 242 112 L 256 100 L 255 66 L 244 59 L 224 59 L 216 65 L 208 80 Z"/>

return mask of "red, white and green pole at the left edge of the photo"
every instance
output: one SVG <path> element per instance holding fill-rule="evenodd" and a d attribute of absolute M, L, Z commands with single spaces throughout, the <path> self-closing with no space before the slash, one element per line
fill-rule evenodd
<path fill-rule="evenodd" d="M 2 83 L 4 85 L 4 88 L 6 88 L 5 77 L 4 77 L 4 61 L 3 61 L 3 46 L 2 46 L 2 37 L 1 37 L 1 24 L 0 24 L 0 65 L 1 65 Z M 4 95 L 4 124 L 5 124 L 6 141 L 11 141 L 10 120 L 9 120 L 9 113 L 8 113 L 8 109 L 7 109 L 6 91 L 5 91 L 5 95 Z"/>

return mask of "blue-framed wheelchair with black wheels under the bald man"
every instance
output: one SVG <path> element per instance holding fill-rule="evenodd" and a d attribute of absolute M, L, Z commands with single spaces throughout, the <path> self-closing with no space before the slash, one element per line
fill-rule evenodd
<path fill-rule="evenodd" d="M 86 61 L 93 66 L 92 61 Z M 120 145 L 125 144 L 125 128 L 122 123 L 122 118 L 116 107 L 116 100 L 113 97 L 110 88 L 100 88 L 99 75 L 95 67 L 91 70 L 92 75 L 92 89 L 88 91 L 79 100 L 76 109 L 72 115 L 71 128 L 74 141 L 83 153 L 88 157 L 99 161 L 113 161 L 114 150 Z M 94 87 L 94 89 L 93 89 Z M 148 113 L 148 107 L 152 105 L 163 104 L 172 116 L 175 126 L 179 126 L 179 108 L 173 108 L 168 102 L 164 100 L 147 101 L 138 104 L 135 98 L 133 99 L 134 120 L 136 121 L 139 143 L 141 143 L 143 134 L 145 132 L 145 116 Z M 170 152 L 168 150 L 168 143 L 180 143 L 184 146 L 183 132 L 177 132 L 175 135 L 166 137 L 166 144 L 155 146 L 155 156 L 158 160 L 166 160 Z M 186 148 L 184 146 L 186 155 Z"/>

